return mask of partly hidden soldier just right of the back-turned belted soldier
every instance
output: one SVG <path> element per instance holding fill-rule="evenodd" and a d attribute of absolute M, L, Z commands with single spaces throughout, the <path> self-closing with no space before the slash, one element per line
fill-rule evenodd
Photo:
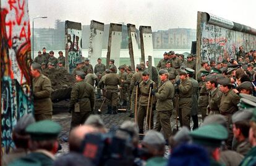
<path fill-rule="evenodd" d="M 127 73 L 126 71 L 124 70 L 124 65 L 122 66 L 119 66 L 119 78 L 120 78 L 120 81 L 121 80 L 126 80 L 127 79 Z M 121 81 L 121 85 L 119 87 L 120 89 L 120 98 L 122 100 L 122 105 L 123 106 L 127 106 L 127 98 L 126 98 L 126 93 L 127 93 L 127 85 L 124 84 L 124 82 Z"/>

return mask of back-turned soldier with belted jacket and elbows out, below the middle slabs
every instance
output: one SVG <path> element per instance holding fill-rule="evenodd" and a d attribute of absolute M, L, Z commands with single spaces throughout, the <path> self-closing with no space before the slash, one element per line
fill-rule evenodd
<path fill-rule="evenodd" d="M 118 104 L 118 87 L 120 85 L 120 79 L 118 74 L 116 74 L 115 66 L 111 66 L 111 73 L 107 74 L 105 80 L 103 81 L 106 85 L 106 99 L 108 105 L 107 114 L 117 114 L 117 104 Z"/>

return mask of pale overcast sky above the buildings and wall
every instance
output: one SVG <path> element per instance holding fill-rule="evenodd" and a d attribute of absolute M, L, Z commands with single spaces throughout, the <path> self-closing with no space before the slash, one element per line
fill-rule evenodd
<path fill-rule="evenodd" d="M 30 23 L 35 28 L 54 28 L 54 21 L 69 20 L 90 25 L 90 20 L 151 26 L 153 31 L 197 28 L 197 11 L 256 29 L 255 0 L 28 0 Z"/>

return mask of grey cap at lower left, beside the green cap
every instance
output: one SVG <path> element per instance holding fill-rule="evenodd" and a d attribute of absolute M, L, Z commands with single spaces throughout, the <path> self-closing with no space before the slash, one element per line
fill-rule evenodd
<path fill-rule="evenodd" d="M 25 135 L 25 129 L 28 125 L 35 123 L 35 118 L 32 114 L 25 114 L 24 116 L 20 117 L 19 121 L 14 127 L 14 132 L 18 133 L 19 135 Z"/>

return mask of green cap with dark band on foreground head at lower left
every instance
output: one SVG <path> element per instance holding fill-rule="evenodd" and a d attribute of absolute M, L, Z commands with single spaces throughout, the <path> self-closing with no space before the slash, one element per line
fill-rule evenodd
<path fill-rule="evenodd" d="M 25 129 L 32 140 L 53 140 L 61 132 L 61 125 L 50 120 L 35 122 Z"/>

